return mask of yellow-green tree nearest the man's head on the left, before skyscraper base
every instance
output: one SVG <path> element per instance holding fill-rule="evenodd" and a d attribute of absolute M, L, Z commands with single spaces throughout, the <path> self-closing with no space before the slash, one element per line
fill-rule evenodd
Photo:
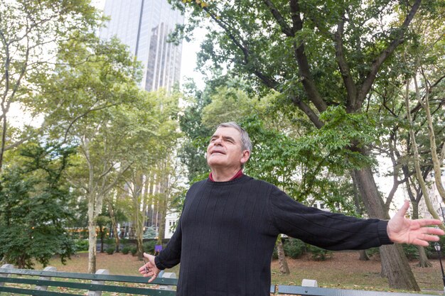
<path fill-rule="evenodd" d="M 177 132 L 179 93 L 167 94 L 159 90 L 152 92 L 151 97 L 156 100 L 156 104 L 151 106 L 151 111 L 154 113 L 151 130 L 154 131 L 154 135 L 144 141 L 147 153 L 141 154 L 136 164 L 125 175 L 126 187 L 129 188 L 132 200 L 133 225 L 140 259 L 143 257 L 142 241 L 146 214 L 151 206 L 156 208 L 159 221 L 158 243 L 161 244 L 168 201 L 176 187 L 174 181 L 179 175 L 178 168 L 173 165 L 180 136 Z M 140 110 L 140 116 L 146 114 L 145 109 Z"/>

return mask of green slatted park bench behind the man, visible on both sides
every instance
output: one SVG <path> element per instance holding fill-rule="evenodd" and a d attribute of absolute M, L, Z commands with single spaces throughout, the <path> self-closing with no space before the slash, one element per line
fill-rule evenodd
<path fill-rule="evenodd" d="M 118 292 L 131 295 L 159 295 L 174 296 L 173 288 L 178 284 L 176 278 L 158 277 L 148 284 L 148 278 L 131 275 L 109 275 L 107 270 L 97 270 L 97 273 L 65 273 L 48 267 L 44 270 L 17 269 L 10 264 L 0 268 L 1 292 L 36 296 L 100 296 L 102 292 Z M 11 276 L 14 275 L 14 276 Z M 37 278 L 38 277 L 38 278 Z M 58 280 L 52 280 L 57 278 Z M 63 280 L 60 280 L 63 279 Z M 90 283 L 82 283 L 89 281 Z M 104 283 L 107 282 L 107 285 Z M 127 284 L 134 285 L 128 287 Z M 5 285 L 7 284 L 7 286 Z M 135 287 L 139 284 L 139 287 Z M 48 290 L 48 287 L 52 287 Z M 71 289 L 71 290 L 68 290 Z M 305 295 L 305 296 L 419 296 L 425 294 L 409 294 L 400 292 L 380 292 L 365 290 L 343 290 L 323 287 L 302 287 L 278 285 L 278 289 L 271 285 L 272 294 Z"/>

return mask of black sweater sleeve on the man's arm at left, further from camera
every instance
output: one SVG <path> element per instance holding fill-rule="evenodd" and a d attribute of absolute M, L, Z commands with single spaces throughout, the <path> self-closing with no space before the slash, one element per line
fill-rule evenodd
<path fill-rule="evenodd" d="M 154 258 L 156 267 L 160 270 L 166 268 L 172 268 L 181 261 L 181 243 L 182 243 L 182 231 L 181 231 L 181 218 L 178 220 L 178 226 L 176 227 L 173 236 L 168 241 L 166 248 L 164 248 L 158 256 Z"/>

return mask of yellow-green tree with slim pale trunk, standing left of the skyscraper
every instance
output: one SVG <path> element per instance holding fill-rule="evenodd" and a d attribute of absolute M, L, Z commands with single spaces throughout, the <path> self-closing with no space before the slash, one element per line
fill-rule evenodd
<path fill-rule="evenodd" d="M 70 40 L 64 46 L 70 52 L 60 53 L 60 63 L 46 78 L 37 99 L 58 106 L 57 112 L 46 118 L 46 135 L 78 146 L 80 158 L 76 158 L 76 169 L 70 170 L 70 182 L 87 199 L 88 270 L 94 273 L 97 216 L 104 197 L 134 163 L 135 153 L 144 153 L 142 140 L 151 131 L 138 126 L 138 120 L 150 118 L 150 113 L 134 117 L 135 105 L 144 101 L 146 94 L 136 85 L 137 65 L 117 40 Z M 150 110 L 150 104 L 143 107 Z"/>

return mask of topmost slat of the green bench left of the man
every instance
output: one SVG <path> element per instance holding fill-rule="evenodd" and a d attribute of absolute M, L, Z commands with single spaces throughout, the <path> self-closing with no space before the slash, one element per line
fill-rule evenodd
<path fill-rule="evenodd" d="M 38 275 L 48 276 L 51 278 L 75 278 L 79 280 L 106 280 L 110 282 L 127 282 L 141 284 L 148 283 L 148 278 L 134 275 L 96 275 L 91 273 L 65 273 L 60 271 L 28 270 L 18 268 L 0 268 L 0 273 L 11 273 L 15 275 Z M 153 282 L 151 282 L 151 284 L 177 285 L 178 280 L 176 278 L 156 278 Z"/>

